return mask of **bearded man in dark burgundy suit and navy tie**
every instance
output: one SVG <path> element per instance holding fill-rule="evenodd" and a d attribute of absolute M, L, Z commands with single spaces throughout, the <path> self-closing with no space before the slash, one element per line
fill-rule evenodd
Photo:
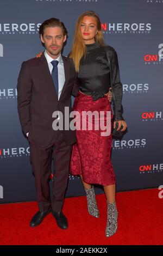
<path fill-rule="evenodd" d="M 68 227 L 62 213 L 68 181 L 71 145 L 76 142 L 75 131 L 54 130 L 53 112 L 58 120 L 65 107 L 71 108 L 71 95 L 78 94 L 76 71 L 72 60 L 61 55 L 67 30 L 59 19 L 49 19 L 39 29 L 40 39 L 45 45 L 41 58 L 22 63 L 17 84 L 18 114 L 23 132 L 28 137 L 30 161 L 35 175 L 35 186 L 39 211 L 30 221 L 30 226 L 40 224 L 52 211 L 60 228 Z M 56 121 L 56 119 L 55 119 Z M 54 182 L 50 197 L 49 176 L 54 158 Z"/>

